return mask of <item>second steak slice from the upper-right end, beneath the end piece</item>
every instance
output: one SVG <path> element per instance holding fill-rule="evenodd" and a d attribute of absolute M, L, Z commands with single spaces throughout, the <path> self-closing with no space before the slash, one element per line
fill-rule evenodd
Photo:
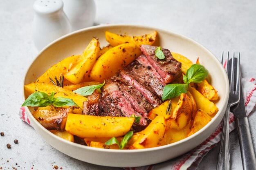
<path fill-rule="evenodd" d="M 144 66 L 137 60 L 135 60 L 133 64 L 135 64 L 136 67 L 131 66 L 130 72 L 136 73 L 139 77 L 144 79 L 144 81 L 147 82 L 148 85 L 153 89 L 155 94 L 161 98 L 163 95 L 164 84 L 155 76 L 153 71 L 151 71 L 151 67 Z"/>

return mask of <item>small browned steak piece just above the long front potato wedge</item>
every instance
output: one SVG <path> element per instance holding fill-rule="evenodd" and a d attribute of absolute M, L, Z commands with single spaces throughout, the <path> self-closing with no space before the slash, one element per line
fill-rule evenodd
<path fill-rule="evenodd" d="M 99 98 L 100 94 L 97 90 L 88 96 L 88 100 L 83 102 L 83 115 L 99 115 Z"/>

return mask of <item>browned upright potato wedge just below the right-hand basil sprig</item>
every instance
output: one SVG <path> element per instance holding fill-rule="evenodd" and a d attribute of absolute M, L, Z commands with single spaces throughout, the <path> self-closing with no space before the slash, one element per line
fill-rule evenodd
<path fill-rule="evenodd" d="M 193 114 L 193 105 L 191 99 L 185 93 L 180 95 L 179 102 L 173 110 L 173 115 L 171 121 L 172 128 L 177 130 L 184 128 L 189 124 Z"/>

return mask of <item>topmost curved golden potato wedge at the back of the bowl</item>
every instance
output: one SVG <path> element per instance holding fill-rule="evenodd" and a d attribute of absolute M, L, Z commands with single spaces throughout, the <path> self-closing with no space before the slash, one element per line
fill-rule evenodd
<path fill-rule="evenodd" d="M 118 46 L 120 44 L 132 43 L 137 46 L 142 44 L 152 45 L 155 42 L 157 31 L 153 33 L 142 35 L 142 36 L 127 36 L 127 35 L 118 35 L 115 33 L 110 33 L 109 31 L 105 32 L 107 42 L 112 46 Z"/>

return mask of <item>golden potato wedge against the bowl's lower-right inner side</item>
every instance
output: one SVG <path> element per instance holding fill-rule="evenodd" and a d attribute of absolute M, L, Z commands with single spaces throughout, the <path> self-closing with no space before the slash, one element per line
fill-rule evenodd
<path fill-rule="evenodd" d="M 211 117 L 207 113 L 204 113 L 203 110 L 198 110 L 198 112 L 195 115 L 195 119 L 193 121 L 193 125 L 190 129 L 188 136 L 193 135 L 195 132 L 202 129 L 210 121 Z"/>

